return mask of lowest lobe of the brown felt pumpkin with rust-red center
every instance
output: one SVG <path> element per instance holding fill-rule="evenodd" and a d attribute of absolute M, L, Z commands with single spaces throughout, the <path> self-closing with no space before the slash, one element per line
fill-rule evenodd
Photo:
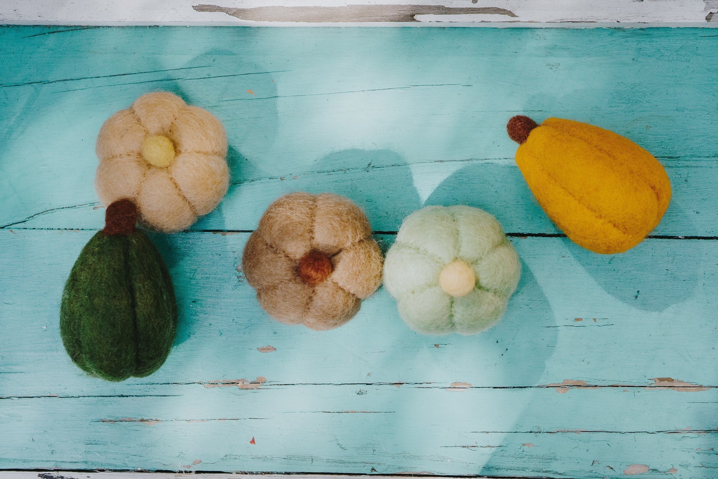
<path fill-rule="evenodd" d="M 361 299 L 346 292 L 333 281 L 314 287 L 302 324 L 315 331 L 331 330 L 352 319 L 361 306 Z"/>

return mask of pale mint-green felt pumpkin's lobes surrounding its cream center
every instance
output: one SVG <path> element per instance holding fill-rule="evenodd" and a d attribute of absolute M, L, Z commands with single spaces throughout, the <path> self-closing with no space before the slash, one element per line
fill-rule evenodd
<path fill-rule="evenodd" d="M 471 266 L 475 287 L 460 297 L 439 276 L 454 261 Z M 495 325 L 521 277 L 521 261 L 493 215 L 469 206 L 428 206 L 404 219 L 384 261 L 384 287 L 399 315 L 428 335 L 475 334 Z"/>

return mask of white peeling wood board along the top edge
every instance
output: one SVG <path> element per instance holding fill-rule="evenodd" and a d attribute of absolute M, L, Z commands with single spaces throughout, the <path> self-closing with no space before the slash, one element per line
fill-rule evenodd
<path fill-rule="evenodd" d="M 718 0 L 2 0 L 0 24 L 695 27 Z"/>

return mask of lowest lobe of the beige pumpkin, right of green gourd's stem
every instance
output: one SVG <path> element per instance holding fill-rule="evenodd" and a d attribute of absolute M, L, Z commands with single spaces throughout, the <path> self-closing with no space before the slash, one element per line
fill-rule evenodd
<path fill-rule="evenodd" d="M 151 168 L 136 197 L 140 222 L 164 233 L 190 227 L 197 219 L 190 203 L 167 175 L 166 169 Z"/>

